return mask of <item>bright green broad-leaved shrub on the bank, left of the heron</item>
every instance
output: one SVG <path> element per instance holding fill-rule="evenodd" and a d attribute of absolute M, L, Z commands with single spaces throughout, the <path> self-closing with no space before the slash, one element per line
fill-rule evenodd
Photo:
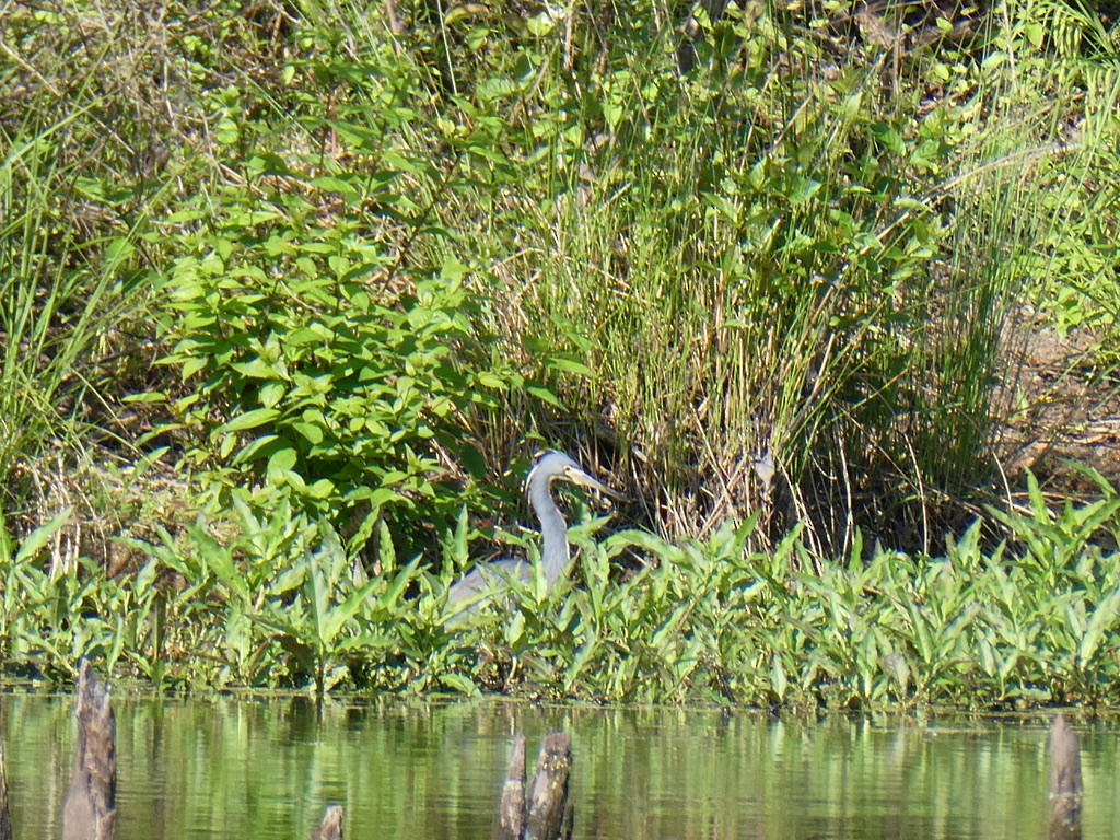
<path fill-rule="evenodd" d="M 199 226 L 164 281 L 165 362 L 197 383 L 177 402 L 197 436 L 189 460 L 220 504 L 290 500 L 347 534 L 384 516 L 408 541 L 450 521 L 464 476 L 448 465 L 483 468 L 463 435 L 472 407 L 510 384 L 473 367 L 466 267 L 394 274 L 357 218 L 325 218 L 300 195 L 360 205 L 353 180 L 302 178 L 274 157 L 249 167 L 264 198 L 254 183 L 176 216 Z"/>

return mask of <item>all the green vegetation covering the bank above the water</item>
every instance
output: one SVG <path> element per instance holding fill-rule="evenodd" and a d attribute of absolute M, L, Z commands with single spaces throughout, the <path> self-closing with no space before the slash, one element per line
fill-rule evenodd
<path fill-rule="evenodd" d="M 1111 12 L 638 6 L 4 10 L 4 673 L 1117 699 L 1120 501 L 1004 470 L 1025 323 L 1112 366 Z M 633 502 L 448 626 L 541 445 Z"/>

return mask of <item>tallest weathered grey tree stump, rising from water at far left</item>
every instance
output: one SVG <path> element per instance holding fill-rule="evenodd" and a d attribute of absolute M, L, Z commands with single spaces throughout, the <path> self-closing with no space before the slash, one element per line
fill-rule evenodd
<path fill-rule="evenodd" d="M 63 805 L 63 840 L 111 840 L 116 823 L 116 725 L 109 688 L 78 665 L 77 756 Z"/>

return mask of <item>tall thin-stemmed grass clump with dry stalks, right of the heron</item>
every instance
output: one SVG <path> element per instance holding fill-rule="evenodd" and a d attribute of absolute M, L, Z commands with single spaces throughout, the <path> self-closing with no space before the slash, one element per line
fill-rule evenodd
<path fill-rule="evenodd" d="M 822 550 L 859 524 L 931 547 L 997 484 L 997 374 L 1045 233 L 1001 162 L 1039 142 L 1008 77 L 952 50 L 902 91 L 883 52 L 828 71 L 776 10 L 729 12 L 681 76 L 675 30 L 617 27 L 563 72 L 560 27 L 525 48 L 540 171 L 482 240 L 511 351 L 578 363 L 585 445 L 664 533 L 762 510 L 759 544 L 802 521 Z"/>

